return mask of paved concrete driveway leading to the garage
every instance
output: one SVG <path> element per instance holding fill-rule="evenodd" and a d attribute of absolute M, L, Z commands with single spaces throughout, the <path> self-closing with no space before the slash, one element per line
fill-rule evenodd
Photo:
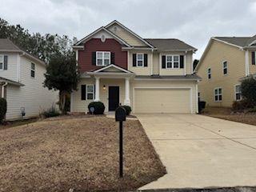
<path fill-rule="evenodd" d="M 168 174 L 141 190 L 256 186 L 256 126 L 196 114 L 137 114 Z"/>

